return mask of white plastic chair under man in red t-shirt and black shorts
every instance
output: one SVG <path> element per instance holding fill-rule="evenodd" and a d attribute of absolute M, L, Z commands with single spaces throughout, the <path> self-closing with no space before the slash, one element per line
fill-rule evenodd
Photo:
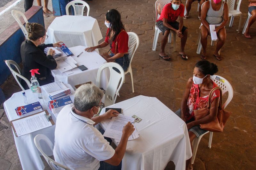
<path fill-rule="evenodd" d="M 158 18 L 158 12 L 157 12 L 157 4 L 160 4 L 160 9 L 161 11 L 163 10 L 164 8 L 164 5 L 170 3 L 170 0 L 157 0 L 156 3 L 155 3 L 155 8 L 156 8 L 156 18 Z M 156 44 L 157 44 L 157 40 L 158 40 L 158 36 L 159 36 L 159 33 L 162 33 L 162 31 L 159 30 L 157 24 L 155 24 L 155 36 L 154 36 L 154 42 L 153 42 L 153 48 L 152 50 L 153 51 L 156 51 Z M 172 34 L 173 34 L 173 51 L 176 51 L 176 33 L 172 30 L 170 30 L 170 34 L 169 34 L 169 43 L 171 43 L 172 41 Z"/>

